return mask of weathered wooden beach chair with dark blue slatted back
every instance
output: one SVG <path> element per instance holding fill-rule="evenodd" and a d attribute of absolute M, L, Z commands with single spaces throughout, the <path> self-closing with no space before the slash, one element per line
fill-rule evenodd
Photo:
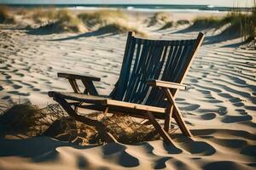
<path fill-rule="evenodd" d="M 183 79 L 203 39 L 204 35 L 199 33 L 191 40 L 148 40 L 129 32 L 119 79 L 108 97 L 99 95 L 93 84 L 100 78 L 68 73 L 58 73 L 58 77 L 67 78 L 73 93 L 50 91 L 49 97 L 77 121 L 96 127 L 106 142 L 116 141 L 108 128 L 102 122 L 80 115 L 78 108 L 146 118 L 167 143 L 172 143 L 167 132 L 173 117 L 183 134 L 191 136 L 174 99 L 178 89 L 186 88 Z M 83 82 L 83 92 L 77 80 Z M 164 127 L 156 119 L 164 119 Z"/>

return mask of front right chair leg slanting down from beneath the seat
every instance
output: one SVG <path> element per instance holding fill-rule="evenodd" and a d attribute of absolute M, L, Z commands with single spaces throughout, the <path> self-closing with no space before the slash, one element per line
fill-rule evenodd
<path fill-rule="evenodd" d="M 155 130 L 160 133 L 160 136 L 166 141 L 166 143 L 168 144 L 172 144 L 172 139 L 169 136 L 168 133 L 166 133 L 166 131 L 160 126 L 160 124 L 155 120 L 153 114 L 150 111 L 147 111 L 147 113 L 145 114 L 148 117 L 148 120 L 153 124 Z"/>

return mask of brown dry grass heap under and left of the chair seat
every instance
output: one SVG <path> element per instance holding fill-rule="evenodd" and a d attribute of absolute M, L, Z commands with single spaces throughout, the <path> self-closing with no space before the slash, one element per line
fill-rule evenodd
<path fill-rule="evenodd" d="M 88 116 L 103 122 L 109 132 L 125 144 L 159 139 L 152 126 L 142 125 L 129 116 L 103 113 Z M 44 135 L 75 144 L 102 144 L 94 127 L 75 121 L 59 105 L 48 105 L 43 109 L 31 104 L 14 105 L 0 115 L 0 136 L 6 135 Z"/>

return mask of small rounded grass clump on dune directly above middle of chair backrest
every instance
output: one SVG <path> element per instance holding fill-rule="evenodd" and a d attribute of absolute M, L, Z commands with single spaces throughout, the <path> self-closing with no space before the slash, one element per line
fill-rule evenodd
<path fill-rule="evenodd" d="M 172 19 L 167 13 L 155 13 L 149 20 L 146 20 L 146 22 L 148 22 L 148 26 L 160 24 L 168 27 L 172 25 Z"/>

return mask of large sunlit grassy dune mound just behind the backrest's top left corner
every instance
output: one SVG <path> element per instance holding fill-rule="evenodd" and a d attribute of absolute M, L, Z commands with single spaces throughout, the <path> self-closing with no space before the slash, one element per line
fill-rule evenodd
<path fill-rule="evenodd" d="M 91 13 L 79 14 L 79 19 L 90 30 L 112 33 L 124 33 L 134 31 L 137 35 L 147 37 L 147 34 L 137 26 L 129 22 L 127 16 L 121 10 L 98 10 Z"/>

